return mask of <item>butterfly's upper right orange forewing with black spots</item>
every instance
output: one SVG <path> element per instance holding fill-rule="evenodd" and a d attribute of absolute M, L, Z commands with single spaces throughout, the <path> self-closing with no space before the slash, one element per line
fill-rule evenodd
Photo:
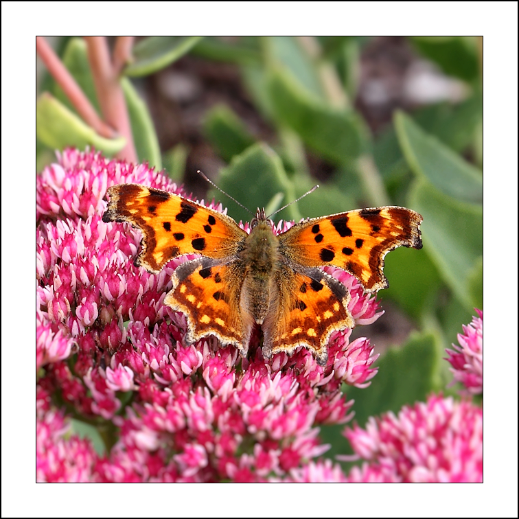
<path fill-rule="evenodd" d="M 399 246 L 422 249 L 422 216 L 405 207 L 356 209 L 312 218 L 279 236 L 295 264 L 333 265 L 354 275 L 369 292 L 387 288 L 384 256 Z"/>

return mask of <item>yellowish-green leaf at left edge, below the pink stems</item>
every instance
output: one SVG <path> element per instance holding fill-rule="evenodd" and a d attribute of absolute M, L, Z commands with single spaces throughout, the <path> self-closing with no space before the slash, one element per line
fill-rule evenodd
<path fill-rule="evenodd" d="M 50 148 L 62 150 L 73 146 L 82 150 L 93 146 L 108 156 L 122 150 L 126 143 L 124 137 L 105 139 L 97 135 L 80 117 L 45 92 L 36 101 L 36 135 Z"/>

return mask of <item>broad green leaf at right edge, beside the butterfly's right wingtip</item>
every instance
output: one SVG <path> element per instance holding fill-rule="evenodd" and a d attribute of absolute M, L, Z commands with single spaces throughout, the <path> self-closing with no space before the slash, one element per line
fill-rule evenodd
<path fill-rule="evenodd" d="M 441 194 L 426 181 L 417 181 L 410 205 L 424 217 L 424 250 L 443 281 L 470 310 L 470 275 L 483 254 L 483 209 Z"/>

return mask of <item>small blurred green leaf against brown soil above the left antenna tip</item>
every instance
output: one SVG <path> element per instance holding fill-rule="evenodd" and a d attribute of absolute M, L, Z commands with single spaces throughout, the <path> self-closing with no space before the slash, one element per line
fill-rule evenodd
<path fill-rule="evenodd" d="M 238 115 L 224 104 L 218 104 L 207 111 L 204 130 L 209 141 L 226 162 L 230 162 L 235 155 L 242 153 L 255 141 Z"/>

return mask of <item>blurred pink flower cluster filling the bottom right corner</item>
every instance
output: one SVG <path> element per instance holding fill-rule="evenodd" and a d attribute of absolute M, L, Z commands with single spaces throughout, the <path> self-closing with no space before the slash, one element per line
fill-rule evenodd
<path fill-rule="evenodd" d="M 373 481 L 373 471 L 387 481 L 483 481 L 483 409 L 471 402 L 432 395 L 397 416 L 371 417 L 365 429 L 347 428 L 345 436 L 369 461 L 350 481 Z"/>

